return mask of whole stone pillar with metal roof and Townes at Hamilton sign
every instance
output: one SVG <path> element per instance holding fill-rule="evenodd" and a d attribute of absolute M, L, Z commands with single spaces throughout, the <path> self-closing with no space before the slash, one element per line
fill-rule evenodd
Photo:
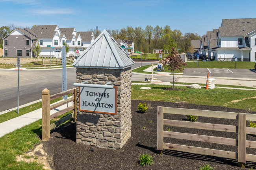
<path fill-rule="evenodd" d="M 73 65 L 80 89 L 76 143 L 122 148 L 131 136 L 133 60 L 104 30 Z"/>

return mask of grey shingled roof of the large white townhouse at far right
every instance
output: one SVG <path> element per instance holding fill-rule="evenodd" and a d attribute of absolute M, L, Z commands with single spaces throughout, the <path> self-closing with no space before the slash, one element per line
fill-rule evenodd
<path fill-rule="evenodd" d="M 220 36 L 244 36 L 255 28 L 256 18 L 223 19 L 219 34 Z"/>

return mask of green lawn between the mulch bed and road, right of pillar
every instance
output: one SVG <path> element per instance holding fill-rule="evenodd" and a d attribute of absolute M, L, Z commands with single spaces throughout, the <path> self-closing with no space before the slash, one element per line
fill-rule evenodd
<path fill-rule="evenodd" d="M 151 87 L 151 90 L 142 90 L 141 87 Z M 192 104 L 205 104 L 212 106 L 226 106 L 244 109 L 250 107 L 256 111 L 256 99 L 246 99 L 236 104 L 228 103 L 234 100 L 250 98 L 256 96 L 256 91 L 251 90 L 232 90 L 215 88 L 211 90 L 191 89 L 184 86 L 175 86 L 184 90 L 163 90 L 171 86 L 162 85 L 132 85 L 132 99 L 148 101 L 168 101 L 168 102 L 186 102 Z M 232 94 L 232 95 L 230 95 Z"/>

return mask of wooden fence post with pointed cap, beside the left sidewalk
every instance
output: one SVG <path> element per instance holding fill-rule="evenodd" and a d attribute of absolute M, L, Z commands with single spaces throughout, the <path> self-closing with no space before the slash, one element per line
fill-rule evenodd
<path fill-rule="evenodd" d="M 42 91 L 42 141 L 50 138 L 50 90 Z"/>

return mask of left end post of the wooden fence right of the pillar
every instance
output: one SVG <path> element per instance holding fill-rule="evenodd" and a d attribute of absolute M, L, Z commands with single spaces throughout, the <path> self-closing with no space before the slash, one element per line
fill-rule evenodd
<path fill-rule="evenodd" d="M 163 107 L 157 107 L 157 146 L 158 154 L 163 155 Z"/>

